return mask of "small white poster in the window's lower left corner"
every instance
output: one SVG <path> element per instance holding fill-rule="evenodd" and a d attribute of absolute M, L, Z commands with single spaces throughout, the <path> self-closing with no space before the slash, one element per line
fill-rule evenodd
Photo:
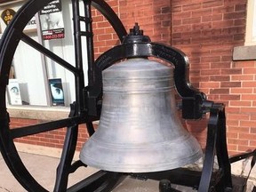
<path fill-rule="evenodd" d="M 9 79 L 7 91 L 11 105 L 22 105 L 20 86 L 17 79 Z"/>

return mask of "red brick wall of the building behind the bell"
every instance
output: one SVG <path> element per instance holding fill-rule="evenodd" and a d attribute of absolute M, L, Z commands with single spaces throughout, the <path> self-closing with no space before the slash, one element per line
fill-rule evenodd
<path fill-rule="evenodd" d="M 206 93 L 209 100 L 226 104 L 230 154 L 256 147 L 255 63 L 232 61 L 233 48 L 244 45 L 246 0 L 107 2 L 127 30 L 139 22 L 144 34 L 150 36 L 152 41 L 170 44 L 188 55 L 191 83 Z M 97 57 L 119 41 L 108 21 L 96 10 L 92 13 Z M 186 122 L 188 130 L 195 134 L 202 146 L 206 123 L 206 118 Z M 62 131 L 56 132 L 56 135 L 59 134 L 63 137 Z M 87 133 L 81 131 L 80 136 L 79 148 Z M 59 142 L 57 140 L 56 143 Z M 45 145 L 50 145 L 48 140 L 42 140 L 46 141 Z M 56 144 L 55 147 L 59 146 Z"/>

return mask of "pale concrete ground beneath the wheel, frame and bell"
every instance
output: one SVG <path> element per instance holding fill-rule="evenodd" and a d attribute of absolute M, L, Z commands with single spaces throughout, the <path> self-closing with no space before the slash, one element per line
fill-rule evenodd
<path fill-rule="evenodd" d="M 55 172 L 60 158 L 42 156 L 31 153 L 20 152 L 20 158 L 33 177 L 47 190 L 54 188 Z M 0 192 L 26 192 L 20 183 L 13 177 L 2 156 L 0 156 Z M 70 174 L 68 186 L 83 180 L 97 172 L 94 168 L 80 167 L 75 173 Z M 180 187 L 176 187 L 181 189 Z M 157 192 L 158 181 L 156 180 L 134 180 L 129 177 L 124 179 L 113 192 Z M 194 191 L 191 188 L 182 188 L 181 191 Z"/>

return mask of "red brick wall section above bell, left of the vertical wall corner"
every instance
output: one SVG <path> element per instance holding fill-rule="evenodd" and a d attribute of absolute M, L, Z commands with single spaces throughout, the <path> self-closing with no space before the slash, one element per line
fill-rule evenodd
<path fill-rule="evenodd" d="M 126 1 L 108 0 L 112 9 L 129 31 L 138 22 L 144 34 L 152 41 L 171 42 L 171 2 L 170 1 Z M 96 57 L 113 45 L 120 44 L 114 29 L 100 12 L 93 12 L 93 32 Z"/>

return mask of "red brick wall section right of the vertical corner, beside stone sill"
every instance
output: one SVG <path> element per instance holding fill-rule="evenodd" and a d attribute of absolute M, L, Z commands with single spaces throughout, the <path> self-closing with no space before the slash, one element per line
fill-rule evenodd
<path fill-rule="evenodd" d="M 230 154 L 255 148 L 256 139 L 254 62 L 232 61 L 234 46 L 244 45 L 246 2 L 172 0 L 172 46 L 188 55 L 191 83 L 209 100 L 226 104 Z M 188 122 L 204 142 L 204 126 L 197 126 Z"/>

